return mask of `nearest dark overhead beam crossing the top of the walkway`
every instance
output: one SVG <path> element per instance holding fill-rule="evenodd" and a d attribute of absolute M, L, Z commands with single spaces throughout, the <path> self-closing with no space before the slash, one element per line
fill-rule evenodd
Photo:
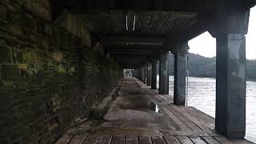
<path fill-rule="evenodd" d="M 66 0 L 66 5 L 71 6 L 77 14 L 88 10 L 198 11 L 200 7 L 207 6 L 206 1 L 202 0 Z"/>

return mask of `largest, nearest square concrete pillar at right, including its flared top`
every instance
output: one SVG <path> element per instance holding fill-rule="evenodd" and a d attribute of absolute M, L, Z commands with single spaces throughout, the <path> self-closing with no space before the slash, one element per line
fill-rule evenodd
<path fill-rule="evenodd" d="M 246 134 L 246 37 L 250 9 L 223 4 L 210 34 L 217 41 L 215 129 L 228 138 Z M 218 19 L 217 19 L 218 18 Z"/>

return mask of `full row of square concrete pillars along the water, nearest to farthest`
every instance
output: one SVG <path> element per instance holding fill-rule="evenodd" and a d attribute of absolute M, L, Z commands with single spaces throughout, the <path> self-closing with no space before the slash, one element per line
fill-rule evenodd
<path fill-rule="evenodd" d="M 228 138 L 246 134 L 246 38 L 219 34 L 216 58 L 215 129 Z M 187 46 L 183 45 L 183 46 Z M 157 89 L 157 60 L 138 69 L 138 79 Z M 159 94 L 168 94 L 167 53 L 159 58 Z M 174 54 L 174 104 L 186 104 L 186 53 Z"/>

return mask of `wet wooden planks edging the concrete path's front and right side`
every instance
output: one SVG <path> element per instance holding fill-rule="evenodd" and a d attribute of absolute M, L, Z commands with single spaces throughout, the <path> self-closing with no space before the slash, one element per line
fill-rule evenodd
<path fill-rule="evenodd" d="M 134 82 L 132 82 L 134 83 Z M 129 84 L 129 83 L 128 83 Z M 132 87 L 123 84 L 122 87 Z M 143 84 L 139 84 L 143 85 Z M 169 95 L 159 95 L 146 86 L 134 86 L 149 96 L 150 101 L 158 105 L 160 113 L 174 127 L 174 131 L 159 130 L 159 135 L 126 135 L 126 134 L 79 134 L 62 136 L 56 143 L 66 144 L 229 144 L 247 143 L 246 141 L 230 142 L 214 131 L 214 118 L 189 106 L 174 106 Z M 121 93 L 122 94 L 122 93 Z M 137 133 L 138 134 L 138 133 Z"/>

